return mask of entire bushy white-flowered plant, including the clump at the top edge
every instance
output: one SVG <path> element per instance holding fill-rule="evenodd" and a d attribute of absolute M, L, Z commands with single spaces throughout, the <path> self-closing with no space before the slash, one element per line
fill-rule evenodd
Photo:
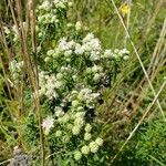
<path fill-rule="evenodd" d="M 71 6 L 68 0 L 44 0 L 35 11 L 41 125 L 58 165 L 98 164 L 104 141 L 95 110 L 128 51 L 104 50 L 93 33 L 83 35 L 82 23 L 68 20 Z M 14 80 L 21 65 L 15 60 L 10 63 Z"/>

